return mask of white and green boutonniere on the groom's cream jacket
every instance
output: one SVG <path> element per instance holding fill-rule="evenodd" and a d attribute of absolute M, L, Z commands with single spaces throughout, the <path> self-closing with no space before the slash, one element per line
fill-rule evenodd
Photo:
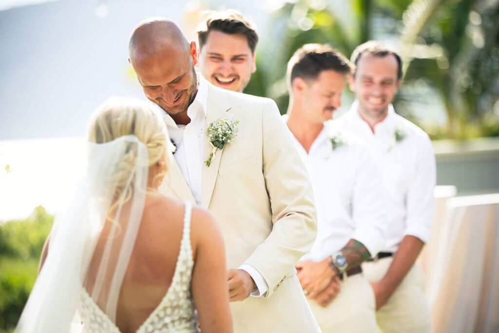
<path fill-rule="evenodd" d="M 217 150 L 224 149 L 225 145 L 232 144 L 238 136 L 238 125 L 239 121 L 230 121 L 227 119 L 219 118 L 212 122 L 206 128 L 206 135 L 210 141 L 210 145 L 213 147 L 210 156 L 205 161 L 207 166 L 212 163 Z"/>

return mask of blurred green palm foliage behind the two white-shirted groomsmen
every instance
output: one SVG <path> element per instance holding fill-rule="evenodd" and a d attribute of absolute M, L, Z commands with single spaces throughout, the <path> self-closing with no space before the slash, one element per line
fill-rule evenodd
<path fill-rule="evenodd" d="M 328 43 L 350 56 L 366 40 L 388 39 L 401 46 L 406 63 L 397 112 L 432 139 L 499 136 L 499 1 L 332 3 L 288 0 L 272 13 L 246 93 L 274 99 L 285 113 L 286 65 L 297 48 Z M 352 97 L 345 89 L 344 100 Z"/>

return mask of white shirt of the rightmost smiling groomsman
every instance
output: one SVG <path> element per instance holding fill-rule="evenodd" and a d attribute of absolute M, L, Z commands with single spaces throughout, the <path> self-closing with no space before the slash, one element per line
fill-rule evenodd
<path fill-rule="evenodd" d="M 435 154 L 428 135 L 389 106 L 374 133 L 360 117 L 355 102 L 336 123 L 364 139 L 383 169 L 388 229 L 383 252 L 396 252 L 406 235 L 427 242 L 433 218 Z M 395 133 L 403 133 L 396 141 Z"/>

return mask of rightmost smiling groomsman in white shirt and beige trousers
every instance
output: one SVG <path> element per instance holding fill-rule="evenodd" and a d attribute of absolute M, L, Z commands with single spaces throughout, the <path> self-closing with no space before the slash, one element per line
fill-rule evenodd
<path fill-rule="evenodd" d="M 402 79 L 400 56 L 374 41 L 352 53 L 356 101 L 338 119 L 372 149 L 383 168 L 389 226 L 382 252 L 362 266 L 376 295 L 383 332 L 430 332 L 423 276 L 415 264 L 433 217 L 435 156 L 431 141 L 391 105 Z"/>

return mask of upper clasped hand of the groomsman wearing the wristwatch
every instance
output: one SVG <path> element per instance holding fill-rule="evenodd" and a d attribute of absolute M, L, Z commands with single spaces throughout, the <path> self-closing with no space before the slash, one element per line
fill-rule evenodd
<path fill-rule="evenodd" d="M 317 297 L 336 276 L 336 271 L 331 268 L 330 262 L 331 258 L 319 262 L 301 261 L 296 263 L 298 280 L 300 280 L 301 288 L 308 298 Z"/>

